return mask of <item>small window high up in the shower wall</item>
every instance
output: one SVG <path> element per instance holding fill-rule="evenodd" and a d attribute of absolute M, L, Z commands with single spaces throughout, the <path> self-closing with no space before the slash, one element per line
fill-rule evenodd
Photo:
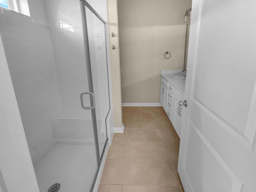
<path fill-rule="evenodd" d="M 30 16 L 28 0 L 0 0 L 0 7 Z"/>

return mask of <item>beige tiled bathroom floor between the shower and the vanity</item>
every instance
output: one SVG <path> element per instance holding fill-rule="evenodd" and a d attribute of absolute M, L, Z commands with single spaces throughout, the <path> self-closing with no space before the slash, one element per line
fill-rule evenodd
<path fill-rule="evenodd" d="M 114 134 L 98 192 L 184 192 L 180 139 L 162 107 L 123 107 L 124 133 Z"/>

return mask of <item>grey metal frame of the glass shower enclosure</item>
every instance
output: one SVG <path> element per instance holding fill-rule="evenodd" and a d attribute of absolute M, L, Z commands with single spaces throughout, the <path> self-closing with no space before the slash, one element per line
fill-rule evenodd
<path fill-rule="evenodd" d="M 90 48 L 89 48 L 89 40 L 88 40 L 88 28 L 87 28 L 87 20 L 86 20 L 86 10 L 85 7 L 87 7 L 95 16 L 97 16 L 103 23 L 104 23 L 104 30 L 105 30 L 105 46 L 106 46 L 106 59 L 108 58 L 107 55 L 107 44 L 106 44 L 106 38 L 108 35 L 108 31 L 106 30 L 106 21 L 97 13 L 96 10 L 86 1 L 86 0 L 80 0 L 80 7 L 81 7 L 81 13 L 82 13 L 82 25 L 83 25 L 83 35 L 84 35 L 84 46 L 85 46 L 85 54 L 86 54 L 86 68 L 87 68 L 87 74 L 88 74 L 88 85 L 89 85 L 89 92 L 93 93 L 93 82 L 92 82 L 92 68 L 91 68 L 91 61 L 90 61 Z M 110 89 L 109 89 L 109 75 L 108 75 L 108 59 L 107 59 L 107 77 L 108 77 L 108 98 L 109 98 L 109 104 L 110 104 Z M 92 95 L 90 95 L 90 102 L 91 106 L 94 103 L 94 99 L 92 98 Z M 111 106 L 108 110 L 108 115 L 110 114 Z M 106 142 L 104 144 L 104 148 L 102 151 L 102 154 L 100 154 L 99 150 L 99 142 L 98 142 L 98 130 L 97 130 L 97 122 L 96 122 L 96 111 L 95 108 L 91 110 L 92 111 L 92 122 L 93 122 L 93 129 L 94 129 L 94 141 L 96 146 L 96 156 L 97 156 L 97 164 L 98 168 L 96 170 L 96 173 L 94 175 L 94 180 L 92 182 L 90 192 L 94 190 L 94 186 L 96 184 L 96 179 L 99 174 L 100 167 L 102 165 L 103 156 L 106 152 L 106 147 L 109 141 L 108 138 L 108 129 L 106 126 Z M 105 119 L 106 123 L 106 119 Z M 107 124 L 107 123 L 106 123 Z"/>

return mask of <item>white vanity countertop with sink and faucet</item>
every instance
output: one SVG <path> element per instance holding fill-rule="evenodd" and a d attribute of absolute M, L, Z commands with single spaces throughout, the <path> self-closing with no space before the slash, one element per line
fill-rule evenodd
<path fill-rule="evenodd" d="M 186 77 L 182 70 L 166 70 L 161 71 L 161 76 L 175 86 L 180 92 L 184 94 Z"/>

